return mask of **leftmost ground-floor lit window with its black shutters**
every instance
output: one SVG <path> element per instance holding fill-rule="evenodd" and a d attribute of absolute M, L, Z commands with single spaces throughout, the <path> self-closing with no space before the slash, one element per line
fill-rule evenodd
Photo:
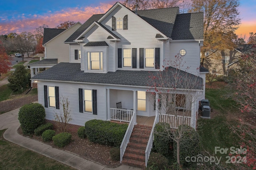
<path fill-rule="evenodd" d="M 44 107 L 48 106 L 60 109 L 58 86 L 44 86 Z"/>

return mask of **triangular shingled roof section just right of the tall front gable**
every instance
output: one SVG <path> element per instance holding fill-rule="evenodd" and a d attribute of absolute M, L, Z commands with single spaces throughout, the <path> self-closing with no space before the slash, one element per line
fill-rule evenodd
<path fill-rule="evenodd" d="M 179 14 L 179 8 L 161 8 L 153 10 L 141 10 L 137 11 L 138 16 L 147 21 L 150 25 L 155 27 L 158 31 L 171 37 L 172 29 L 176 19 L 176 15 Z"/>

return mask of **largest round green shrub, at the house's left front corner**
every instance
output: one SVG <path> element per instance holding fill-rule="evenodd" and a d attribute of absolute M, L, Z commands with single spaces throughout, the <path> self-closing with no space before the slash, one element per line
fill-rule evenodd
<path fill-rule="evenodd" d="M 38 103 L 26 104 L 20 108 L 18 119 L 23 133 L 32 135 L 36 128 L 44 124 L 44 106 Z"/>

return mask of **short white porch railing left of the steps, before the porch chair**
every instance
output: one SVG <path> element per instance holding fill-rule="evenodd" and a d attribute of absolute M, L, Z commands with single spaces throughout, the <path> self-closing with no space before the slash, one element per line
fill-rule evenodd
<path fill-rule="evenodd" d="M 110 119 L 130 122 L 133 110 L 110 108 Z"/>

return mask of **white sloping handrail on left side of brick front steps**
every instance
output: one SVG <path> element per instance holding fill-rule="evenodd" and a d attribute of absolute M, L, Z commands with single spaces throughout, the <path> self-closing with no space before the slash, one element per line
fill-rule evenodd
<path fill-rule="evenodd" d="M 135 124 L 136 124 L 136 112 L 134 111 L 134 114 L 132 115 L 132 118 L 130 120 L 128 128 L 124 134 L 123 141 L 120 145 L 120 163 L 122 163 L 124 152 L 125 152 L 126 147 L 130 141 L 130 137 L 132 135 L 132 130 L 133 130 Z"/>

